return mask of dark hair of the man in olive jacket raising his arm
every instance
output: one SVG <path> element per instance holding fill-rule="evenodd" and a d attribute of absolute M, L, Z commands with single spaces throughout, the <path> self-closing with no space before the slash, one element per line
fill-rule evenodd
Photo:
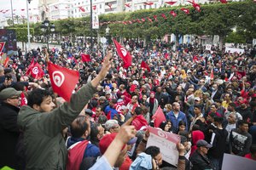
<path fill-rule="evenodd" d="M 41 105 L 42 102 L 44 101 L 44 98 L 47 98 L 48 96 L 51 96 L 49 91 L 41 88 L 36 88 L 32 90 L 31 93 L 28 94 L 27 105 L 31 107 L 33 105 Z"/>

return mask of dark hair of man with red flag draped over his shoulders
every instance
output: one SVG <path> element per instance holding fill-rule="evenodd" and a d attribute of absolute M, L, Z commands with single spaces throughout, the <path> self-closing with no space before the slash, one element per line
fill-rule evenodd
<path fill-rule="evenodd" d="M 70 126 L 70 132 L 73 138 L 81 137 L 88 129 L 89 125 L 86 122 L 86 116 L 78 116 Z"/>

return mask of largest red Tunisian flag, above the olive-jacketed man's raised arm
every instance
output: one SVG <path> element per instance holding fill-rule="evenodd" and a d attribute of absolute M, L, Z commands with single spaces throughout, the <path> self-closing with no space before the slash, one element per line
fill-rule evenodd
<path fill-rule="evenodd" d="M 48 62 L 48 71 L 53 91 L 69 101 L 73 89 L 79 82 L 79 71 L 72 71 L 51 62 Z"/>

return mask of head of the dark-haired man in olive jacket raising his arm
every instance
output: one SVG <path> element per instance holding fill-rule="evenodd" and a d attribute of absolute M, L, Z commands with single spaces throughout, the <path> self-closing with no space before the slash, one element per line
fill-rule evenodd
<path fill-rule="evenodd" d="M 27 105 L 40 112 L 49 112 L 55 108 L 49 91 L 41 88 L 36 88 L 28 94 Z"/>

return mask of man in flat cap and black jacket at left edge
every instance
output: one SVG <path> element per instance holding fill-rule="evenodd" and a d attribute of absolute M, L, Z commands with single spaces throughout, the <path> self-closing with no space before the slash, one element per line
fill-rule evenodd
<path fill-rule="evenodd" d="M 17 126 L 17 116 L 21 91 L 15 88 L 5 88 L 0 92 L 0 168 L 16 167 L 15 147 L 20 135 Z"/>

